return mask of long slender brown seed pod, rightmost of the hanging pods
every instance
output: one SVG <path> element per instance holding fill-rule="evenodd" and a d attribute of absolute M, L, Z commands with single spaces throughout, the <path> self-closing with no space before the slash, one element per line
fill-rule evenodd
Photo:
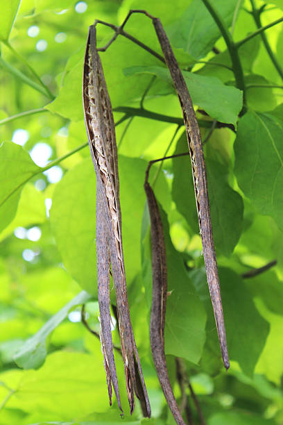
<path fill-rule="evenodd" d="M 221 301 L 221 290 L 218 278 L 218 269 L 216 254 L 214 249 L 214 240 L 212 236 L 212 222 L 210 219 L 209 198 L 207 191 L 207 178 L 205 171 L 205 160 L 203 157 L 203 146 L 200 138 L 200 129 L 196 120 L 193 103 L 187 89 L 184 77 L 175 59 L 171 44 L 162 27 L 160 19 L 153 18 L 153 25 L 157 38 L 160 42 L 166 64 L 171 73 L 171 78 L 178 94 L 180 106 L 185 122 L 187 140 L 189 144 L 189 153 L 191 156 L 191 168 L 194 179 L 194 189 L 196 195 L 196 208 L 198 210 L 198 223 L 200 226 L 200 235 L 203 243 L 203 256 L 205 259 L 205 269 L 207 272 L 207 282 L 209 293 L 212 299 L 216 328 L 221 346 L 221 353 L 225 368 L 230 367 L 228 348 L 225 333 L 225 324 L 223 317 L 223 308 Z"/>

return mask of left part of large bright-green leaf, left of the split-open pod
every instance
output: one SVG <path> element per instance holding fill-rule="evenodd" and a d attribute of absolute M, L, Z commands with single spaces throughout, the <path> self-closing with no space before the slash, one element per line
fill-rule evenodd
<path fill-rule="evenodd" d="M 90 158 L 86 158 L 56 186 L 50 222 L 67 271 L 94 295 L 97 294 L 95 210 L 95 172 Z"/>

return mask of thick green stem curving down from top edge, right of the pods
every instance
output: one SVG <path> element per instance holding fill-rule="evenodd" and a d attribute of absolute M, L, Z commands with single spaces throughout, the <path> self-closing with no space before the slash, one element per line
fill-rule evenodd
<path fill-rule="evenodd" d="M 222 17 L 218 15 L 218 12 L 214 8 L 214 6 L 212 6 L 212 3 L 210 2 L 210 0 L 203 0 L 203 3 L 205 4 L 207 10 L 209 10 L 210 15 L 212 15 L 216 25 L 218 26 L 221 32 L 221 35 L 223 36 L 225 40 L 228 51 L 230 53 L 230 58 L 232 61 L 232 68 L 233 68 L 237 88 L 239 88 L 239 90 L 243 90 L 243 105 L 245 106 L 246 105 L 245 81 L 243 78 L 243 68 L 241 66 L 237 44 L 234 43 L 234 40 L 232 39 L 232 35 L 228 31 L 228 28 L 226 27 L 225 22 L 223 22 Z"/>

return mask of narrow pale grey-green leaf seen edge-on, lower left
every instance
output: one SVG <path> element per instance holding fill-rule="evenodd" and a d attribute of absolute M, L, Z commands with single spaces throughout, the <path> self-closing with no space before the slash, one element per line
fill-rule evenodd
<path fill-rule="evenodd" d="M 74 299 L 66 304 L 61 310 L 58 311 L 51 319 L 49 319 L 44 326 L 35 333 L 31 338 L 28 338 L 22 345 L 21 349 L 17 351 L 14 360 L 19 367 L 24 369 L 37 369 L 40 367 L 46 358 L 46 339 L 52 331 L 60 325 L 60 323 L 67 317 L 71 308 L 83 304 L 91 298 L 87 292 L 80 292 Z"/>

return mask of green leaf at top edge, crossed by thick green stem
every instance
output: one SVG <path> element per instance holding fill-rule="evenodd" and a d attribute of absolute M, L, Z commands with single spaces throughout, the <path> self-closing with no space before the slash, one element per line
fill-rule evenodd
<path fill-rule="evenodd" d="M 213 6 L 226 26 L 230 26 L 237 0 L 214 0 Z M 196 59 L 203 58 L 221 37 L 214 19 L 198 0 L 192 1 L 182 17 L 166 27 L 166 33 L 174 47 L 181 47 Z"/>

